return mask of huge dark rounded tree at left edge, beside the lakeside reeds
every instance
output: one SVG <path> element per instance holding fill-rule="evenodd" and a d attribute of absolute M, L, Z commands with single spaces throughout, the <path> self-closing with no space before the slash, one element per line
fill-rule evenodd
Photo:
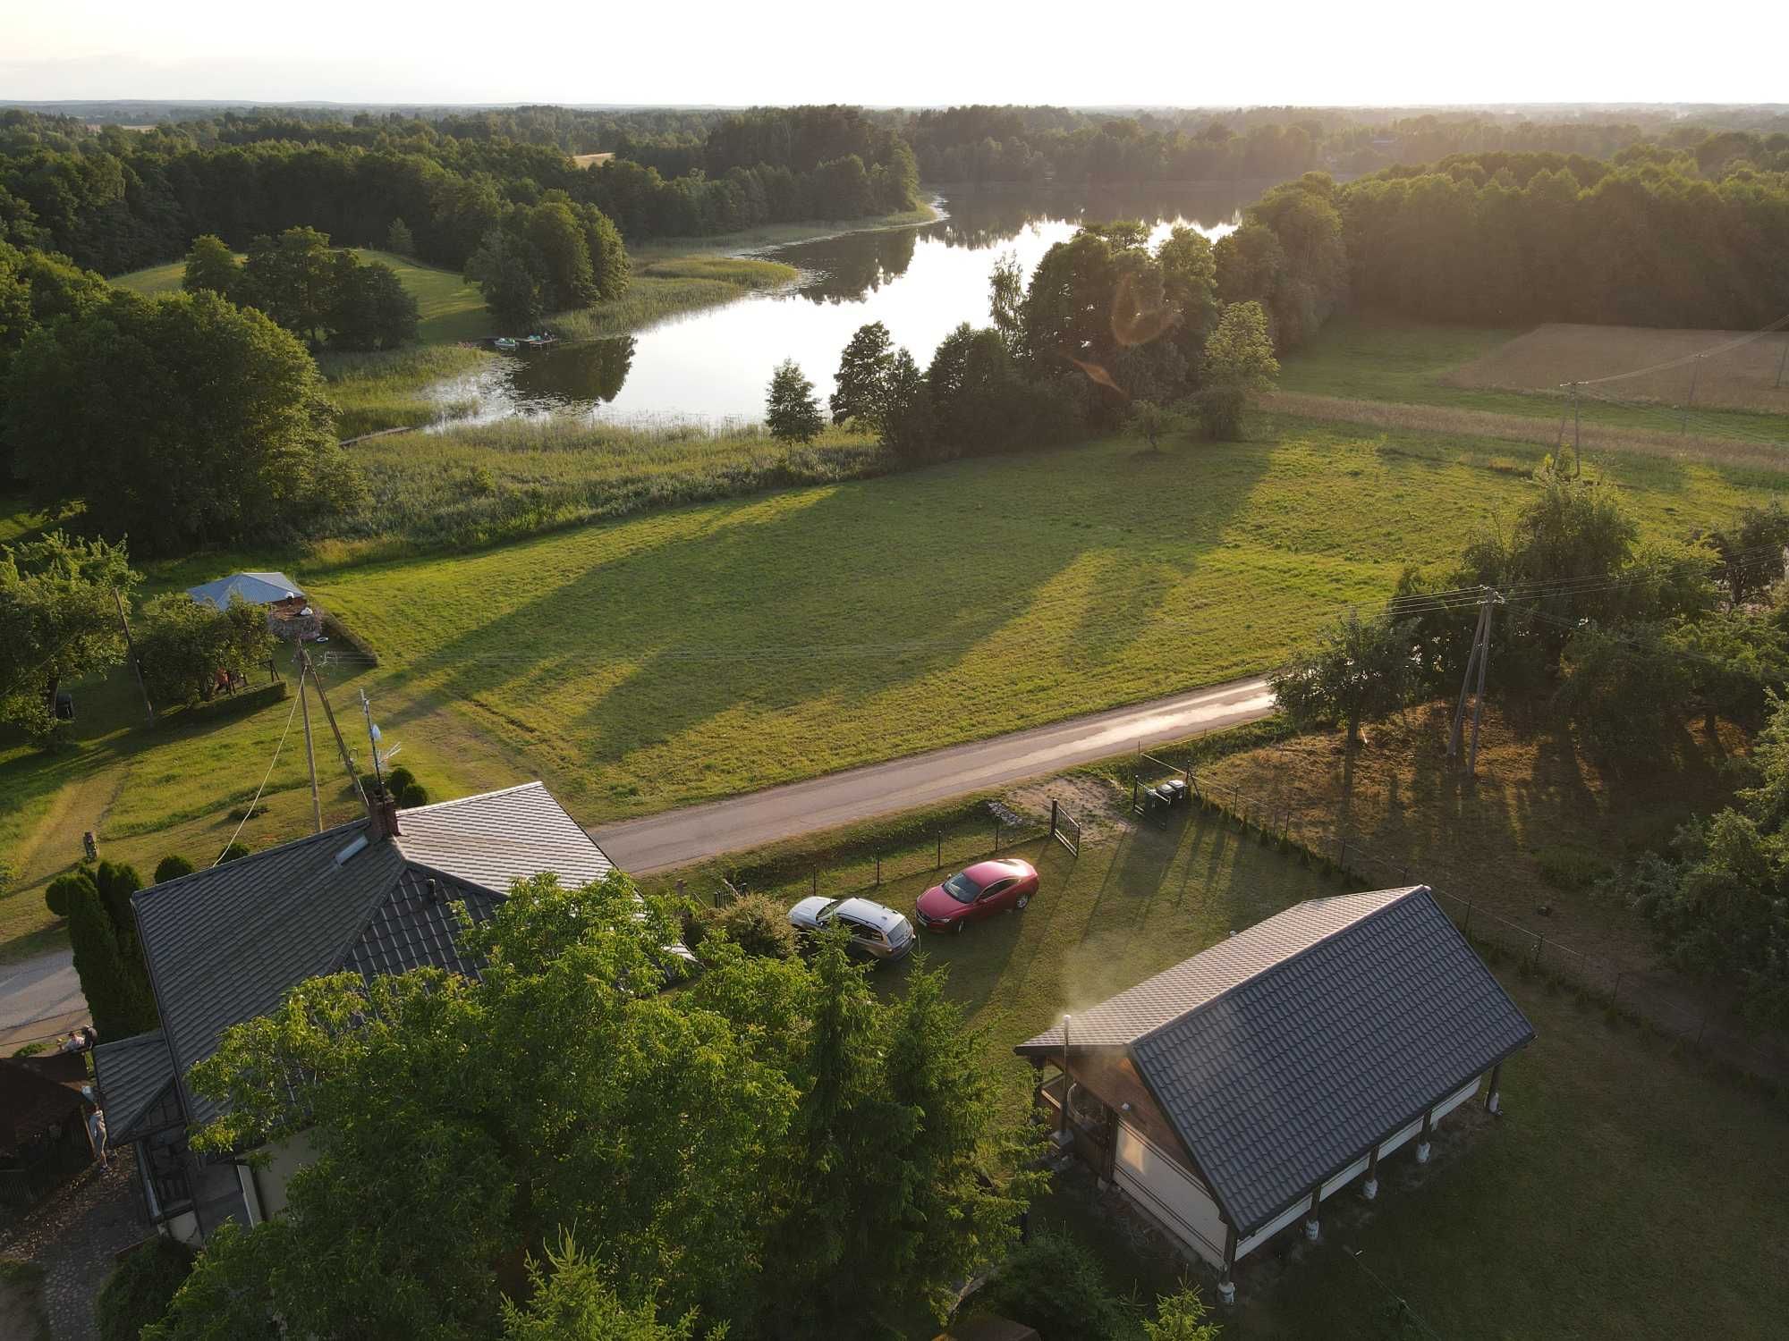
<path fill-rule="evenodd" d="M 114 293 L 39 331 L 5 401 L 30 497 L 154 552 L 295 535 L 361 495 L 309 354 L 213 293 Z"/>

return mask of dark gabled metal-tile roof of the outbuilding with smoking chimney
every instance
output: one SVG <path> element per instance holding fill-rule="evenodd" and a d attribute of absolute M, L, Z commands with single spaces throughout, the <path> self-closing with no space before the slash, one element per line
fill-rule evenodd
<path fill-rule="evenodd" d="M 1129 1051 L 1238 1234 L 1533 1035 L 1422 885 L 1301 903 L 1070 1021 Z"/>

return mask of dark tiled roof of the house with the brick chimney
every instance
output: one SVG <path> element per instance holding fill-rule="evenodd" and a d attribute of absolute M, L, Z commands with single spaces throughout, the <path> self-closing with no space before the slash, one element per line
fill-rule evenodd
<path fill-rule="evenodd" d="M 132 898 L 170 1067 L 193 1121 L 209 1121 L 216 1107 L 186 1092 L 186 1071 L 216 1051 L 224 1030 L 267 1014 L 293 985 L 342 969 L 471 971 L 453 939 L 454 899 L 488 915 L 519 876 L 583 885 L 614 871 L 540 783 L 403 810 L 399 830 L 356 848 L 370 839 L 358 819 Z"/>

